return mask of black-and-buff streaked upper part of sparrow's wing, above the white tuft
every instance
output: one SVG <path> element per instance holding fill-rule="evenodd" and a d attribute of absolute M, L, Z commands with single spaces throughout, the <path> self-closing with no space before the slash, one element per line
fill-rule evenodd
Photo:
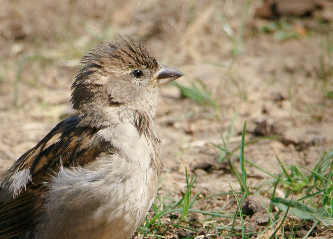
<path fill-rule="evenodd" d="M 84 166 L 109 146 L 96 135 L 101 128 L 79 126 L 80 119 L 68 118 L 52 129 L 34 148 L 14 164 L 18 169 L 30 169 L 31 175 L 43 169 Z"/>

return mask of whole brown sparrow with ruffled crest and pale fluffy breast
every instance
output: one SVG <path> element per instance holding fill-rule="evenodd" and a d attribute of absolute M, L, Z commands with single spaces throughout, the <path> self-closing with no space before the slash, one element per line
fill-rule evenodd
<path fill-rule="evenodd" d="M 164 158 L 158 88 L 183 73 L 128 36 L 96 45 L 81 63 L 75 116 L 0 181 L 0 239 L 129 239 L 152 205 Z"/>

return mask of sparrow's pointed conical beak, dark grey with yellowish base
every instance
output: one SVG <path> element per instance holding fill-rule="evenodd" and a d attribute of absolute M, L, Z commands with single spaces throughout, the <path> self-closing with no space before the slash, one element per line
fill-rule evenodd
<path fill-rule="evenodd" d="M 161 63 L 159 63 L 159 65 L 161 69 L 153 76 L 152 80 L 154 86 L 162 86 L 184 75 L 176 69 L 163 65 Z"/>

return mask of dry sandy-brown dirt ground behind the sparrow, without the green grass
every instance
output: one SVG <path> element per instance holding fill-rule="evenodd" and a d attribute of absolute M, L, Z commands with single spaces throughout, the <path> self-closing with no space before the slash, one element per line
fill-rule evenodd
<path fill-rule="evenodd" d="M 273 174 L 281 171 L 276 156 L 312 168 L 333 147 L 333 99 L 326 96 L 333 91 L 332 22 L 320 23 L 316 14 L 263 20 L 254 16 L 260 5 L 1 0 L 0 176 L 72 114 L 70 86 L 80 58 L 117 34 L 142 38 L 158 61 L 185 74 L 179 84 L 200 80 L 217 102 L 215 110 L 184 99 L 175 86 L 161 88 L 156 126 L 170 169 L 161 195 L 185 190 L 185 166 L 198 175 L 194 192 L 228 192 L 229 182 L 239 189 L 211 143 L 221 145 L 234 124 L 228 149 L 237 148 L 244 121 L 247 141 L 270 136 L 245 146 L 248 160 Z M 284 24 L 262 30 L 274 22 Z M 250 165 L 246 170 L 252 187 L 269 178 Z"/>

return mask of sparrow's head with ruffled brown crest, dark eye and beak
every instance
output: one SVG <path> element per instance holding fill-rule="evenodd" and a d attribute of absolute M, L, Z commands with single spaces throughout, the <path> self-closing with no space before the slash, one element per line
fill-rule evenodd
<path fill-rule="evenodd" d="M 82 63 L 71 99 L 81 117 L 103 117 L 117 107 L 154 117 L 158 86 L 183 76 L 158 63 L 144 43 L 132 37 L 96 45 Z"/>

